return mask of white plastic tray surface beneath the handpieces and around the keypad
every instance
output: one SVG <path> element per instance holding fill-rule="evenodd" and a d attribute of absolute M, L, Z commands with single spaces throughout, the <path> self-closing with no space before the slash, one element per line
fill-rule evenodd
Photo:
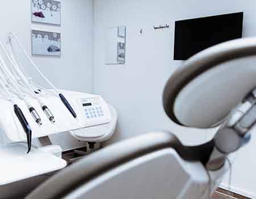
<path fill-rule="evenodd" d="M 73 118 L 71 113 L 69 113 L 68 109 L 64 106 L 58 96 L 46 96 L 42 98 L 49 110 L 51 110 L 52 114 L 54 115 L 56 121 L 55 123 L 51 123 L 48 120 L 46 114 L 44 114 L 36 99 L 28 98 L 31 105 L 35 107 L 36 111 L 38 111 L 38 114 L 42 118 L 43 125 L 39 126 L 32 118 L 32 115 L 28 111 L 24 101 L 16 101 L 31 126 L 32 138 L 40 138 L 42 136 L 56 134 L 59 132 L 77 130 L 94 125 L 102 125 L 111 121 L 109 107 L 104 99 L 102 99 L 100 96 L 79 92 L 69 92 L 66 90 L 61 90 L 61 93 L 64 94 L 65 98 L 67 98 L 68 102 L 77 113 L 76 119 Z M 94 118 L 93 120 L 86 118 L 82 111 L 81 101 L 85 98 L 98 99 L 99 104 L 104 109 L 104 117 L 101 117 L 100 119 Z M 9 101 L 0 99 L 0 109 L 0 127 L 2 131 L 5 132 L 7 137 L 13 142 L 26 140 L 26 134 L 24 133 L 23 128 L 14 113 L 13 105 L 11 105 Z"/>

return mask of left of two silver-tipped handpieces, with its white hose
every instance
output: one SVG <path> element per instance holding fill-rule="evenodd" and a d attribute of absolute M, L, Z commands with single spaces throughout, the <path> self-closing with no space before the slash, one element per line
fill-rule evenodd
<path fill-rule="evenodd" d="M 3 48 L 2 43 L 0 43 L 1 48 L 3 49 L 3 51 L 6 54 L 5 49 Z M 7 76 L 7 79 L 11 82 L 11 84 L 13 85 L 14 89 L 16 90 L 16 92 L 18 93 L 20 99 L 24 100 L 24 102 L 26 102 L 26 105 L 28 107 L 28 110 L 30 111 L 32 117 L 35 119 L 35 122 L 38 123 L 38 125 L 42 125 L 41 122 L 41 118 L 39 116 L 39 114 L 37 113 L 37 111 L 34 109 L 34 107 L 32 105 L 30 105 L 30 103 L 24 98 L 23 94 L 20 92 L 17 83 L 15 82 L 11 72 L 9 72 L 9 69 L 7 68 L 5 62 L 3 61 L 2 57 L 0 57 L 0 62 L 1 62 L 1 68 L 3 73 L 5 73 L 5 75 Z"/>

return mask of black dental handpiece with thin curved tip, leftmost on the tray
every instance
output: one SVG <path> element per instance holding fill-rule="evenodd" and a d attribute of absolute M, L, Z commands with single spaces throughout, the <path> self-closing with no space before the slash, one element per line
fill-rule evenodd
<path fill-rule="evenodd" d="M 25 131 L 25 133 L 27 135 L 27 147 L 28 147 L 27 154 L 28 154 L 31 151 L 32 130 L 31 130 L 30 125 L 27 122 L 27 119 L 24 117 L 22 110 L 16 104 L 14 105 L 14 112 L 15 112 L 16 116 L 18 117 L 19 122 L 22 125 L 23 130 Z"/>

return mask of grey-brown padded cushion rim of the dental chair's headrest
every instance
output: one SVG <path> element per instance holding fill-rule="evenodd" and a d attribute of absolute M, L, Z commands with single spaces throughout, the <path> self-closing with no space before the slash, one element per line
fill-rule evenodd
<path fill-rule="evenodd" d="M 175 99 L 181 89 L 201 73 L 216 67 L 218 64 L 252 55 L 256 55 L 255 37 L 236 39 L 214 45 L 185 61 L 185 63 L 172 74 L 164 89 L 163 106 L 168 117 L 177 124 L 185 126 L 174 114 Z"/>

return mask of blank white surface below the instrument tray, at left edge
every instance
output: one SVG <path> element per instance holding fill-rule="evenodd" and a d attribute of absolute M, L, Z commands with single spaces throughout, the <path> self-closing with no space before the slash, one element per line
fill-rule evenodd
<path fill-rule="evenodd" d="M 26 143 L 11 143 L 0 147 L 0 186 L 64 168 L 65 160 L 32 147 L 27 154 Z"/>

